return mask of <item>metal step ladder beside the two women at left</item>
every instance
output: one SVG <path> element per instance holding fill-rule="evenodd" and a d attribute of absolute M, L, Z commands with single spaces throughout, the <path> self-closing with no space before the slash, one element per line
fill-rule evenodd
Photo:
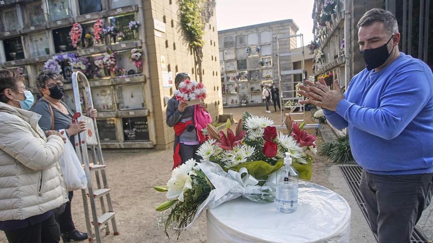
<path fill-rule="evenodd" d="M 92 92 L 90 89 L 89 81 L 82 72 L 72 73 L 72 88 L 74 92 L 74 102 L 76 114 L 83 114 L 81 99 L 80 99 L 80 86 L 85 88 L 84 104 L 85 108 L 93 109 Z M 102 150 L 99 141 L 99 133 L 96 125 L 96 120 L 83 115 L 76 115 L 76 121 L 84 120 L 86 122 L 87 131 L 75 135 L 75 150 L 77 156 L 84 166 L 84 171 L 87 177 L 87 190 L 82 189 L 84 214 L 86 217 L 87 233 L 89 235 L 89 242 L 93 240 L 96 243 L 101 243 L 101 232 L 105 230 L 105 234 L 110 234 L 109 221 L 111 220 L 113 234 L 119 235 L 116 226 L 116 219 L 113 205 L 111 203 L 110 191 L 108 187 L 107 176 L 105 174 L 106 165 L 102 157 Z M 92 162 L 89 161 L 89 150 L 92 155 Z M 96 180 L 96 187 L 93 186 L 93 175 Z M 89 214 L 89 203 L 92 218 Z M 99 205 L 97 205 L 99 199 Z M 100 209 L 100 213 L 98 211 Z M 93 230 L 92 230 L 93 225 Z"/>

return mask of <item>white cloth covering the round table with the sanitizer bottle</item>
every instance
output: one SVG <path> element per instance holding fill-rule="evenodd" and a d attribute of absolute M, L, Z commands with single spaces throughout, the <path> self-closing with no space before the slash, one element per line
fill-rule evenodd
<path fill-rule="evenodd" d="M 330 189 L 300 182 L 296 212 L 275 206 L 238 198 L 208 209 L 208 243 L 349 242 L 350 207 Z"/>

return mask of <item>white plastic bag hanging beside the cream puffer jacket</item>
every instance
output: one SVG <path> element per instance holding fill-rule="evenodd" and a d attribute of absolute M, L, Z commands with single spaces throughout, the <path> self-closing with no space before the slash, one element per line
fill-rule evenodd
<path fill-rule="evenodd" d="M 69 139 L 66 139 L 59 162 L 68 191 L 87 188 L 86 173 Z"/>

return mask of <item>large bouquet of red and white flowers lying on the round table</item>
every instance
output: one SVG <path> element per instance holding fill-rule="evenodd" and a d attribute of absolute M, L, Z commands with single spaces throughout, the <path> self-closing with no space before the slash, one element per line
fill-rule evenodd
<path fill-rule="evenodd" d="M 273 202 L 276 191 L 275 173 L 283 166 L 286 152 L 293 160 L 300 178 L 311 177 L 311 153 L 315 153 L 315 136 L 303 130 L 303 124 L 286 120 L 288 134 L 277 132 L 267 117 L 244 113 L 235 131 L 227 120 L 226 130 L 217 132 L 208 124 L 210 139 L 197 151 L 203 160 L 189 160 L 174 168 L 165 191 L 168 201 L 156 210 L 162 211 L 158 225 L 173 230 L 179 238 L 206 208 L 243 196 L 260 203 Z M 168 209 L 171 209 L 168 212 Z"/>

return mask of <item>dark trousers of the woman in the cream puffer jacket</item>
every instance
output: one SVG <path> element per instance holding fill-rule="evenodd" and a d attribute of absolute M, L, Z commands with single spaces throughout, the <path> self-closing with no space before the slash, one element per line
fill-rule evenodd
<path fill-rule="evenodd" d="M 45 221 L 29 227 L 5 231 L 9 243 L 58 243 L 60 241 L 59 225 L 52 214 Z"/>

